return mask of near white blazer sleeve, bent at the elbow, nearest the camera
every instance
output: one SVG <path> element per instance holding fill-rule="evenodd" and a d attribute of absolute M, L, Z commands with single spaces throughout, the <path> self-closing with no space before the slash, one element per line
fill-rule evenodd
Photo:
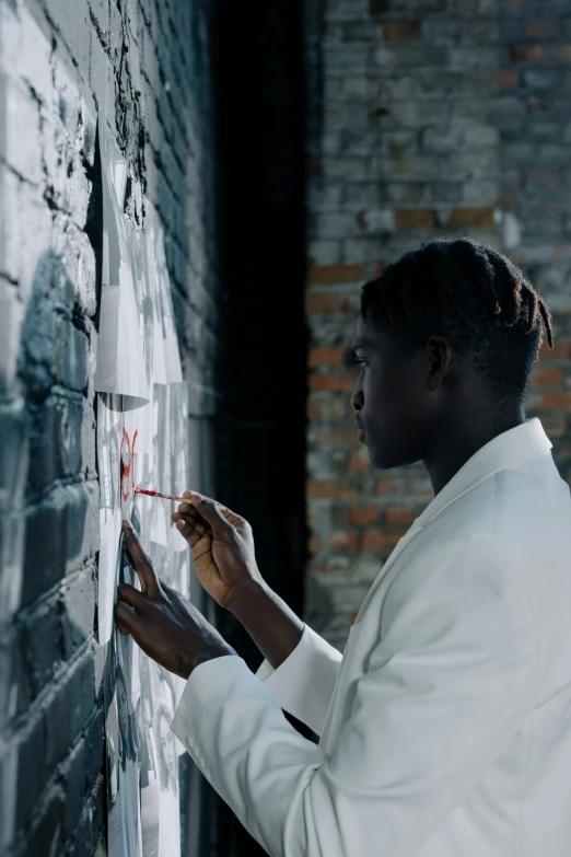
<path fill-rule="evenodd" d="M 458 538 L 398 574 L 330 756 L 237 656 L 191 673 L 173 731 L 271 857 L 410 857 L 537 698 L 535 628 L 514 571 Z"/>

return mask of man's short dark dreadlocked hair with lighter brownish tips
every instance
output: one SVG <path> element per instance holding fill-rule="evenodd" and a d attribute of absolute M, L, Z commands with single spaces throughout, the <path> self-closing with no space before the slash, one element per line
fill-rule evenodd
<path fill-rule="evenodd" d="M 551 315 L 524 274 L 502 253 L 468 238 L 421 244 L 369 280 L 361 315 L 423 347 L 445 335 L 502 401 L 525 395 L 543 340 L 553 347 Z"/>

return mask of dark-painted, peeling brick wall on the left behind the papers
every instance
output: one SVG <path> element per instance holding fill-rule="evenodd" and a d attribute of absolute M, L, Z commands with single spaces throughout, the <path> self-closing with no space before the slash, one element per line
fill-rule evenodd
<path fill-rule="evenodd" d="M 166 235 L 190 447 L 214 410 L 209 4 L 0 3 L 0 853 L 105 853 L 96 120 Z"/>

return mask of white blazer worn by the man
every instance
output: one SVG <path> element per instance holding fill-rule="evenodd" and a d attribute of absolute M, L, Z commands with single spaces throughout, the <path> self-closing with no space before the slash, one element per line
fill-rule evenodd
<path fill-rule="evenodd" d="M 571 499 L 550 448 L 531 419 L 458 471 L 342 658 L 305 626 L 276 671 L 193 672 L 173 731 L 272 857 L 571 855 Z"/>

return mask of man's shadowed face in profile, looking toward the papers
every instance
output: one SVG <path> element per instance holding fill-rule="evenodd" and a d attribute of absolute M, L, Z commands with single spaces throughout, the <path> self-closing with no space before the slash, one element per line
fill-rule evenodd
<path fill-rule="evenodd" d="M 361 315 L 353 348 L 361 367 L 351 404 L 371 464 L 387 470 L 420 461 L 432 404 L 424 351 L 399 343 L 389 331 L 375 331 Z"/>

